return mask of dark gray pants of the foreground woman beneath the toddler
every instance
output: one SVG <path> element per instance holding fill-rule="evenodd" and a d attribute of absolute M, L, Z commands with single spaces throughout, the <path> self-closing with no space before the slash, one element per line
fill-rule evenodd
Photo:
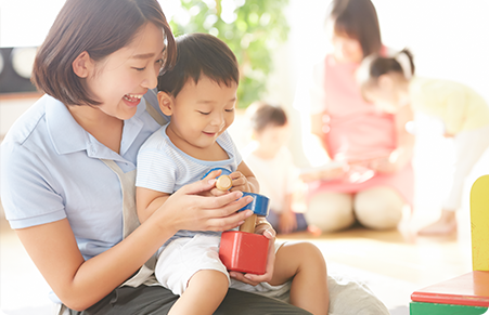
<path fill-rule="evenodd" d="M 93 306 L 70 315 L 160 315 L 167 314 L 179 297 L 159 286 L 123 287 L 112 291 Z M 310 314 L 285 302 L 229 289 L 216 315 Z"/>

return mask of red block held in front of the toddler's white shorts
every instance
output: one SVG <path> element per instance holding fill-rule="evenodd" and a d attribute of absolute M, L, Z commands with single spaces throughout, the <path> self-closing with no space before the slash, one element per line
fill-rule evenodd
<path fill-rule="evenodd" d="M 222 233 L 219 258 L 229 271 L 262 275 L 267 267 L 269 239 L 263 235 L 227 231 Z"/>

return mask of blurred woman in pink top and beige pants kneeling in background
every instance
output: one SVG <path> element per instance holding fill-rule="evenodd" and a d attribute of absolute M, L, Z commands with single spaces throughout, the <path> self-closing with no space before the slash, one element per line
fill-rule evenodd
<path fill-rule="evenodd" d="M 309 107 L 310 132 L 331 158 L 303 176 L 310 188 L 306 218 L 323 232 L 356 220 L 369 228 L 394 228 L 402 207 L 412 204 L 414 140 L 406 131 L 412 111 L 409 106 L 396 115 L 377 111 L 356 82 L 363 57 L 386 50 L 372 2 L 334 0 L 327 26 L 333 52 L 312 71 L 310 102 L 295 106 Z"/>

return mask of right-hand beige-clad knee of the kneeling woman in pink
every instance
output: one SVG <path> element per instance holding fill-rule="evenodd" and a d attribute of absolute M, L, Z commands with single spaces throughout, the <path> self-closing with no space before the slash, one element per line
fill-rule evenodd
<path fill-rule="evenodd" d="M 355 196 L 355 214 L 365 227 L 374 229 L 395 228 L 402 218 L 404 200 L 389 187 L 375 187 Z"/>

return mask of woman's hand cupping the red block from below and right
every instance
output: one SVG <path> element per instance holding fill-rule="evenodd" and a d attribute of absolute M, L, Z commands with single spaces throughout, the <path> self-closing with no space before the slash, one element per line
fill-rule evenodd
<path fill-rule="evenodd" d="M 275 264 L 275 231 L 268 223 L 265 218 L 257 218 L 257 225 L 255 228 L 255 234 L 262 234 L 265 237 L 269 239 L 268 245 L 268 258 L 267 258 L 267 267 L 265 274 L 262 275 L 254 275 L 254 274 L 243 274 L 239 272 L 230 272 L 229 275 L 231 278 L 240 280 L 242 283 L 257 286 L 259 283 L 269 283 L 273 276 L 273 266 Z"/>

